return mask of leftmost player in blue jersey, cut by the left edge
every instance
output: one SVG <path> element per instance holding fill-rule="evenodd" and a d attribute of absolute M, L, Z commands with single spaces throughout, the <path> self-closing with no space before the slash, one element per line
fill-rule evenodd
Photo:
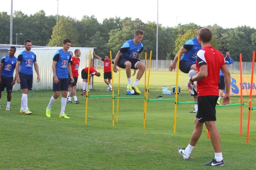
<path fill-rule="evenodd" d="M 17 58 L 14 56 L 16 52 L 15 47 L 10 47 L 8 53 L 2 58 L 0 63 L 0 100 L 2 97 L 2 91 L 6 88 L 7 92 L 7 105 L 6 110 L 10 110 L 10 104 L 12 100 L 12 87 L 16 82 L 16 76 L 13 79 L 13 73 L 16 66 Z M 1 108 L 1 106 L 0 106 Z"/>

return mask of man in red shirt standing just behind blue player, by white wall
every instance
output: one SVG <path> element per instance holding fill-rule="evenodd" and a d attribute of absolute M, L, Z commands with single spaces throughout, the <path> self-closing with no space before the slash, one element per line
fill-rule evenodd
<path fill-rule="evenodd" d="M 78 70 L 79 70 L 79 64 L 80 64 L 79 57 L 81 56 L 81 51 L 79 49 L 76 49 L 74 53 L 75 53 L 75 56 L 71 57 L 71 62 L 70 62 L 74 82 L 71 83 L 71 91 L 69 94 L 68 103 L 72 103 L 71 100 L 72 100 L 72 97 L 74 96 L 75 104 L 79 104 L 79 101 L 77 100 L 77 97 L 76 97 L 76 83 L 78 80 Z"/>

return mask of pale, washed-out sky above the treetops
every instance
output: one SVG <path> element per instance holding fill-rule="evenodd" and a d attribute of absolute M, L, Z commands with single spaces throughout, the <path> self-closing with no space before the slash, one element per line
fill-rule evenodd
<path fill-rule="evenodd" d="M 11 14 L 11 1 L 1 0 L 0 12 Z M 94 15 L 98 22 L 105 18 L 139 18 L 144 23 L 156 22 L 175 27 L 196 23 L 217 24 L 223 28 L 250 26 L 256 28 L 254 0 L 13 0 L 13 12 L 30 15 L 44 10 L 46 16 L 70 16 L 81 20 Z M 57 10 L 58 9 L 58 10 Z"/>

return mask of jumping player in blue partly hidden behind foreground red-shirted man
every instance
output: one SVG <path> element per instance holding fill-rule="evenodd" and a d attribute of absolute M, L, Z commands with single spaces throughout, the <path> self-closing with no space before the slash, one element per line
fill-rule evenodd
<path fill-rule="evenodd" d="M 180 56 L 182 55 L 180 59 L 180 71 L 184 73 L 188 73 L 188 78 L 196 75 L 196 54 L 197 52 L 202 49 L 202 46 L 199 43 L 199 30 L 202 27 L 199 27 L 197 30 L 196 37 L 188 40 L 181 48 L 180 48 Z M 178 61 L 178 53 L 176 54 L 173 63 L 169 66 L 169 71 L 175 70 L 176 63 Z M 186 88 L 191 93 L 191 96 L 194 97 L 194 102 L 197 102 L 197 88 L 196 88 L 196 82 L 194 82 L 193 86 L 189 88 L 186 86 Z M 190 111 L 190 113 L 197 113 L 198 106 L 197 104 L 194 104 L 194 110 Z"/>

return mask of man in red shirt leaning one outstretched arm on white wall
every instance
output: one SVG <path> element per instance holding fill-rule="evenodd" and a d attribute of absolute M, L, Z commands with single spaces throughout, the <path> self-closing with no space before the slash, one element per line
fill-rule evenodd
<path fill-rule="evenodd" d="M 93 52 L 93 55 L 97 58 L 100 59 L 101 61 L 104 62 L 104 82 L 108 85 L 108 91 L 112 91 L 113 88 L 111 86 L 111 79 L 112 79 L 112 74 L 111 74 L 111 63 L 114 64 L 113 61 L 110 61 L 109 55 L 105 55 L 105 59 L 102 59 L 100 56 L 95 54 L 95 51 Z"/>

